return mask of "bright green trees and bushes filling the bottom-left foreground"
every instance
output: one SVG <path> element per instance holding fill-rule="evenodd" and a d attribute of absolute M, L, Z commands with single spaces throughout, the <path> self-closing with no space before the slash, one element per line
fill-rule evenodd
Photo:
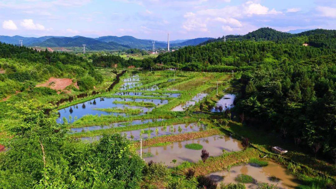
<path fill-rule="evenodd" d="M 144 162 L 120 134 L 85 144 L 68 138 L 49 104 L 25 101 L 8 112 L 19 122 L 0 154 L 0 188 L 137 188 Z M 24 179 L 23 179 L 24 178 Z"/>

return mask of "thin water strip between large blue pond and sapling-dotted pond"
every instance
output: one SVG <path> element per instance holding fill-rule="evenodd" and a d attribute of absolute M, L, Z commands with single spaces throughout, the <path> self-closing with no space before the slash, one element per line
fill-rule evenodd
<path fill-rule="evenodd" d="M 95 130 L 101 130 L 101 129 L 110 129 L 114 127 L 125 127 L 130 125 L 141 125 L 146 123 L 152 123 L 152 122 L 161 122 L 165 119 L 146 119 L 146 120 L 133 120 L 130 122 L 117 122 L 112 123 L 111 125 L 105 125 L 105 126 L 90 126 L 90 127 L 81 127 L 81 128 L 71 128 L 70 133 L 79 133 L 79 132 L 88 132 L 88 131 L 95 131 Z"/>

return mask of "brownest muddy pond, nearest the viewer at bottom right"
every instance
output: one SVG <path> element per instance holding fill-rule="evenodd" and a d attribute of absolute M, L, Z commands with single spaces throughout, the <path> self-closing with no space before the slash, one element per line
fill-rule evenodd
<path fill-rule="evenodd" d="M 216 172 L 211 173 L 208 176 L 215 179 L 217 182 L 229 183 L 236 182 L 235 178 L 239 174 L 250 175 L 257 180 L 257 183 L 273 184 L 283 189 L 294 189 L 299 184 L 286 168 L 273 161 L 268 161 L 268 166 L 266 167 L 253 167 L 250 164 L 246 164 L 243 166 L 231 167 L 229 172 Z M 270 177 L 277 177 L 280 180 L 271 181 Z M 245 186 L 246 188 L 257 188 L 257 184 L 252 183 L 245 184 Z"/>

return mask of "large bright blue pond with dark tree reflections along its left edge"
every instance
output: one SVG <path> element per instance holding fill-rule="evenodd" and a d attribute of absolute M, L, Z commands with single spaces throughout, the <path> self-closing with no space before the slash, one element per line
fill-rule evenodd
<path fill-rule="evenodd" d="M 132 99 L 132 98 L 108 98 L 108 97 L 98 97 L 89 101 L 86 101 L 84 103 L 72 105 L 70 107 L 66 107 L 63 109 L 58 110 L 59 112 L 59 118 L 56 120 L 57 123 L 63 123 L 63 117 L 68 119 L 68 122 L 73 122 L 74 118 L 77 117 L 77 119 L 80 119 L 84 115 L 123 115 L 126 116 L 125 113 L 116 113 L 116 112 L 107 112 L 107 111 L 100 111 L 100 110 L 94 110 L 95 108 L 121 108 L 124 109 L 127 108 L 138 108 L 142 110 L 143 114 L 145 112 L 152 111 L 154 107 L 143 107 L 143 106 L 131 106 L 127 104 L 115 104 L 114 101 L 125 101 L 125 102 L 152 102 L 155 105 L 163 105 L 167 104 L 168 100 L 160 100 L 160 99 Z M 71 115 L 72 120 L 69 120 L 69 115 Z"/>

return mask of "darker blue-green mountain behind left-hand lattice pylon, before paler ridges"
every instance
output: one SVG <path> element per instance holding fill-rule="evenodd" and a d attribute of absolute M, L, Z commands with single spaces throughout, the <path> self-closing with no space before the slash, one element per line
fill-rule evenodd
<path fill-rule="evenodd" d="M 86 44 L 89 50 L 122 50 L 130 48 L 127 45 L 121 45 L 116 42 L 102 42 L 87 37 L 64 37 L 64 38 L 50 38 L 40 43 L 34 43 L 31 46 L 41 47 L 80 47 Z"/>

